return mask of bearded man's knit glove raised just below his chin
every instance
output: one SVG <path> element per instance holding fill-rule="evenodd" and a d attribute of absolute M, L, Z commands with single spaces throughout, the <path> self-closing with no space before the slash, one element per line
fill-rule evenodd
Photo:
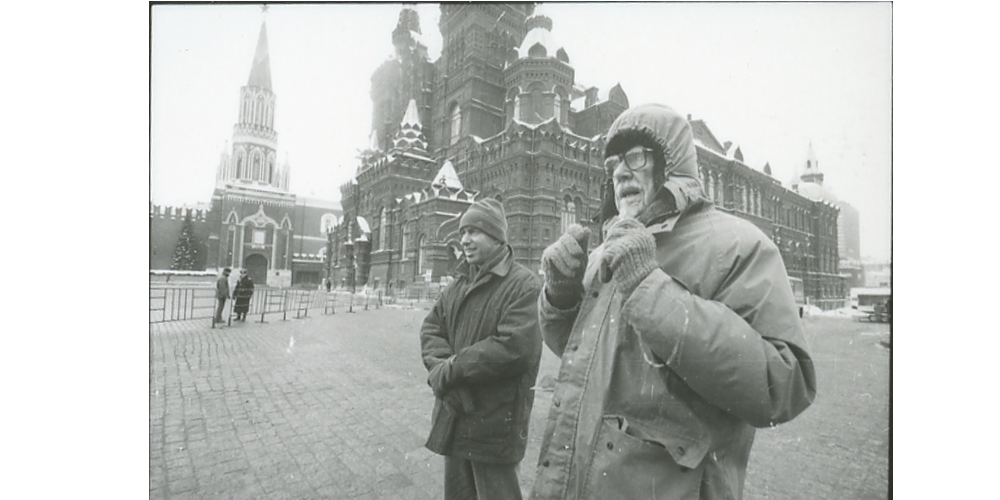
<path fill-rule="evenodd" d="M 612 277 L 628 299 L 656 265 L 656 240 L 635 219 L 621 219 L 608 230 L 601 256 L 601 280 Z"/>

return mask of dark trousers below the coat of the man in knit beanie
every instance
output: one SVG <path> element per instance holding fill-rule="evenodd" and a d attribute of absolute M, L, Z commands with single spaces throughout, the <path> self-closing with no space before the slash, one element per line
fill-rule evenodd
<path fill-rule="evenodd" d="M 445 500 L 521 500 L 517 464 L 444 457 Z"/>

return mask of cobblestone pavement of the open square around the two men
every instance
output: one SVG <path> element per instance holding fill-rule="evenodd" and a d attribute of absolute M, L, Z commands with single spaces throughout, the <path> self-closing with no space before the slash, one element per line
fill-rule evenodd
<path fill-rule="evenodd" d="M 427 311 L 320 312 L 150 326 L 151 499 L 441 498 L 443 461 L 423 447 Z M 807 328 L 820 396 L 799 419 L 758 432 L 745 498 L 886 498 L 888 327 L 816 318 Z M 557 371 L 546 350 L 540 383 Z M 536 393 L 525 491 L 551 396 Z"/>

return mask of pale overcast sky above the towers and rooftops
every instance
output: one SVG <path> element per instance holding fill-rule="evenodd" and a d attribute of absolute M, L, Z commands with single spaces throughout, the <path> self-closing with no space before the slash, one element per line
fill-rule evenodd
<path fill-rule="evenodd" d="M 368 142 L 372 72 L 401 4 L 159 5 L 152 9 L 150 198 L 207 203 L 266 20 L 278 158 L 291 190 L 339 199 Z M 576 82 L 704 120 L 788 184 L 810 142 L 825 185 L 861 213 L 863 255 L 888 259 L 891 6 L 544 4 Z M 439 7 L 419 4 L 431 60 Z"/>

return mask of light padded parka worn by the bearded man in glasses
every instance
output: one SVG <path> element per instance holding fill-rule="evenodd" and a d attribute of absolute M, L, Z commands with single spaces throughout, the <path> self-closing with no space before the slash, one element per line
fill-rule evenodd
<path fill-rule="evenodd" d="M 680 213 L 647 225 L 659 268 L 629 297 L 598 276 L 603 245 L 581 302 L 558 309 L 539 297 L 545 344 L 562 365 L 531 498 L 739 499 L 755 428 L 813 401 L 777 247 L 689 185 L 675 193 Z"/>

